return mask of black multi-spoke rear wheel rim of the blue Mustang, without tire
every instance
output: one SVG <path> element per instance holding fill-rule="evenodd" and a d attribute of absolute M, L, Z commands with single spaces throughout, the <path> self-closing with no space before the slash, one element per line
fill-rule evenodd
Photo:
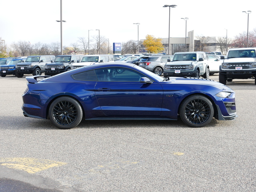
<path fill-rule="evenodd" d="M 52 116 L 56 123 L 67 126 L 75 122 L 78 116 L 77 108 L 72 102 L 60 101 L 54 106 Z"/>

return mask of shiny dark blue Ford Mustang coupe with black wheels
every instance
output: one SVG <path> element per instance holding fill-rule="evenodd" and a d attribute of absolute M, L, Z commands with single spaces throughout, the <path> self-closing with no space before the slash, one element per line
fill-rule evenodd
<path fill-rule="evenodd" d="M 28 76 L 24 116 L 60 129 L 86 120 L 177 120 L 191 127 L 234 119 L 235 93 L 203 78 L 164 79 L 134 64 L 94 64 L 56 76 Z"/>

